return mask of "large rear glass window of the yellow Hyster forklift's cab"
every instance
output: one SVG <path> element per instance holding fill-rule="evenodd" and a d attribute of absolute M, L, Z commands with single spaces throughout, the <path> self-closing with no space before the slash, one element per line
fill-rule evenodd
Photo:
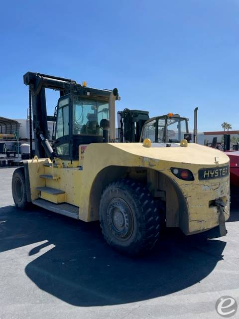
<path fill-rule="evenodd" d="M 100 127 L 101 120 L 109 120 L 109 103 L 84 99 L 79 96 L 73 98 L 73 134 L 74 135 L 103 135 Z"/>

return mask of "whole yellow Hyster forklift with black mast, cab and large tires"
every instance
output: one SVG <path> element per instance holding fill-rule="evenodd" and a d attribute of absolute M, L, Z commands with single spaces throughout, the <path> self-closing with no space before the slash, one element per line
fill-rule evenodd
<path fill-rule="evenodd" d="M 191 235 L 220 225 L 226 235 L 229 158 L 188 143 L 184 118 L 168 114 L 145 122 L 144 113 L 140 142 L 117 143 L 117 89 L 32 72 L 24 83 L 35 156 L 13 173 L 16 207 L 32 203 L 86 222 L 100 220 L 108 244 L 128 255 L 154 247 L 165 226 Z M 45 88 L 60 92 L 52 145 Z"/>

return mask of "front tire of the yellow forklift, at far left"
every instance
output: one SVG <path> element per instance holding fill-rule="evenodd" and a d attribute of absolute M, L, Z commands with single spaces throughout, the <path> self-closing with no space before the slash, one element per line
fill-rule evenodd
<path fill-rule="evenodd" d="M 29 206 L 26 197 L 26 183 L 24 168 L 14 170 L 11 180 L 11 191 L 15 206 L 19 209 L 26 209 Z"/>

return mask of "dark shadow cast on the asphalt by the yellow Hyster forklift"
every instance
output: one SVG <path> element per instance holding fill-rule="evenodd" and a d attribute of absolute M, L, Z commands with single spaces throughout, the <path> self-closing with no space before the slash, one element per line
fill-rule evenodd
<path fill-rule="evenodd" d="M 151 254 L 133 259 L 104 242 L 98 222 L 14 206 L 0 208 L 0 220 L 0 252 L 31 245 L 26 275 L 41 290 L 82 307 L 148 300 L 195 285 L 223 259 L 226 246 L 216 239 L 217 228 L 187 237 L 171 229 Z"/>

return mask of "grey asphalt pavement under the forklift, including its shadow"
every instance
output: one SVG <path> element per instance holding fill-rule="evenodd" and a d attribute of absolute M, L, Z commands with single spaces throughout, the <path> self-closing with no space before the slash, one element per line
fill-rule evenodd
<path fill-rule="evenodd" d="M 132 259 L 108 247 L 98 222 L 17 210 L 13 171 L 0 169 L 0 319 L 213 319 L 220 297 L 239 303 L 236 201 L 226 237 L 168 229 Z"/>

